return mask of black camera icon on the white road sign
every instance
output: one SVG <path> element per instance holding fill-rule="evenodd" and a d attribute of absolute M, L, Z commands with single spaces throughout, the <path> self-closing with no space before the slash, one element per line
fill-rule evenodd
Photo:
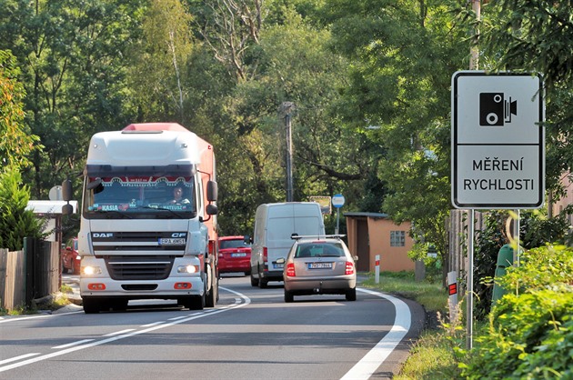
<path fill-rule="evenodd" d="M 479 125 L 503 126 L 518 115 L 518 101 L 503 93 L 479 93 Z"/>

